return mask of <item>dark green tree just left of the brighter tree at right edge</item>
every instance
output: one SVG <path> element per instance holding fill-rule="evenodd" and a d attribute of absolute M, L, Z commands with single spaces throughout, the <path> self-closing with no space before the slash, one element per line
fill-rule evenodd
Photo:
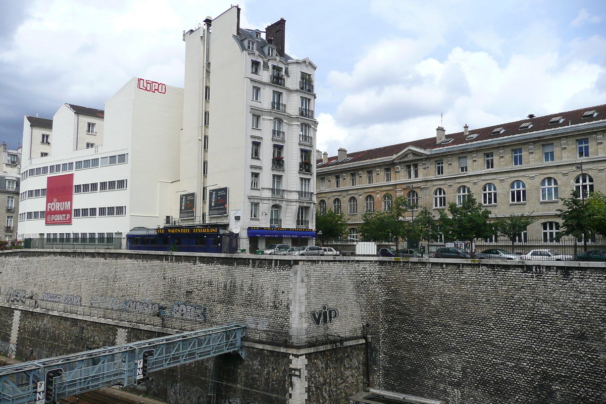
<path fill-rule="evenodd" d="M 556 240 L 564 236 L 573 236 L 577 239 L 583 237 L 584 250 L 587 251 L 587 237 L 591 234 L 593 228 L 592 214 L 585 208 L 584 200 L 581 199 L 579 191 L 575 190 L 571 197 L 560 198 L 560 200 L 562 200 L 562 205 L 566 209 L 558 209 L 562 223 Z M 574 243 L 574 250 L 576 255 L 576 243 Z"/>

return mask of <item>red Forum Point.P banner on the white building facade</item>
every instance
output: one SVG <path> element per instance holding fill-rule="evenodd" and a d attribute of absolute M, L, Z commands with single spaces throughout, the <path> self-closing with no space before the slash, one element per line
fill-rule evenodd
<path fill-rule="evenodd" d="M 46 179 L 46 224 L 72 224 L 72 197 L 74 174 L 47 177 Z"/>

